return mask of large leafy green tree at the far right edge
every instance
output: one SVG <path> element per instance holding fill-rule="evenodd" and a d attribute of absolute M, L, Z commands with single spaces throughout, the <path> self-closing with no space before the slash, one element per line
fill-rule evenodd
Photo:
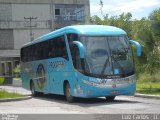
<path fill-rule="evenodd" d="M 160 10 L 153 11 L 149 19 L 142 18 L 133 22 L 133 36 L 140 40 L 143 47 L 143 54 L 140 59 L 136 58 L 136 64 L 139 71 L 144 69 L 151 75 L 159 70 L 160 66 L 160 20 L 158 19 Z"/>

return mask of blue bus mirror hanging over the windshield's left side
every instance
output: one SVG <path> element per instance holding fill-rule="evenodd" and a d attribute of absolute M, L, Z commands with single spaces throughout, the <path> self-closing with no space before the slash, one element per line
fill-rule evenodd
<path fill-rule="evenodd" d="M 75 44 L 78 47 L 79 53 L 80 53 L 80 58 L 84 58 L 85 48 L 84 48 L 83 44 L 79 41 L 73 41 L 73 44 Z"/>

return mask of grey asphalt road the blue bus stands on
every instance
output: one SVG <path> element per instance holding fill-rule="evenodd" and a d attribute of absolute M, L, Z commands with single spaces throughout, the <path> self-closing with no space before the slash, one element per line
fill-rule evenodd
<path fill-rule="evenodd" d="M 21 88 L 5 88 L 30 94 Z M 160 114 L 160 99 L 118 96 L 114 102 L 105 98 L 80 99 L 67 103 L 64 96 L 42 95 L 23 101 L 1 102 L 0 114 Z"/>

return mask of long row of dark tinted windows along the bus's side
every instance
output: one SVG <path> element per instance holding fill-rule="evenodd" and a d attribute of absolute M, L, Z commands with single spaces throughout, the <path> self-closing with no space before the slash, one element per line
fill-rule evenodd
<path fill-rule="evenodd" d="M 23 62 L 63 57 L 68 59 L 64 36 L 56 37 L 21 49 Z"/>

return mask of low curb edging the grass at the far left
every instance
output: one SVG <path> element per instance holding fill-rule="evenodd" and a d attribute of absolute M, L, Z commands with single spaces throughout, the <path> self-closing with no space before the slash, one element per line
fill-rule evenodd
<path fill-rule="evenodd" d="M 31 98 L 32 98 L 32 96 L 18 97 L 18 98 L 7 98 L 7 99 L 0 99 L 0 102 L 21 101 L 21 100 L 28 100 Z"/>

